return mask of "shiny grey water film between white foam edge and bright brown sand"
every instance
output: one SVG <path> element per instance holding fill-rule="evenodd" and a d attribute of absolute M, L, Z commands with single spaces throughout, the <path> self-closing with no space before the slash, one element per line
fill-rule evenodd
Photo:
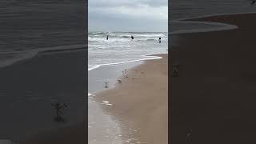
<path fill-rule="evenodd" d="M 120 65 L 101 66 L 98 69 L 88 71 L 88 130 L 89 130 L 89 143 L 90 144 L 121 144 L 126 141 L 130 141 L 130 136 L 122 134 L 122 128 L 126 128 L 126 123 L 121 122 L 114 118 L 113 115 L 108 114 L 105 110 L 102 110 L 102 106 L 113 106 L 111 102 L 107 100 L 102 102 L 96 102 L 95 93 L 100 90 L 105 90 L 105 83 L 109 82 L 109 88 L 111 89 L 117 82 L 119 77 L 122 77 L 122 70 L 130 69 L 131 67 L 138 66 L 140 62 L 128 62 Z M 108 90 L 107 89 L 107 90 Z M 129 130 L 129 129 L 128 129 Z M 136 130 L 135 130 L 136 131 Z M 128 133 L 134 133 L 134 130 L 127 131 Z M 134 140 L 134 142 L 137 142 Z"/>

